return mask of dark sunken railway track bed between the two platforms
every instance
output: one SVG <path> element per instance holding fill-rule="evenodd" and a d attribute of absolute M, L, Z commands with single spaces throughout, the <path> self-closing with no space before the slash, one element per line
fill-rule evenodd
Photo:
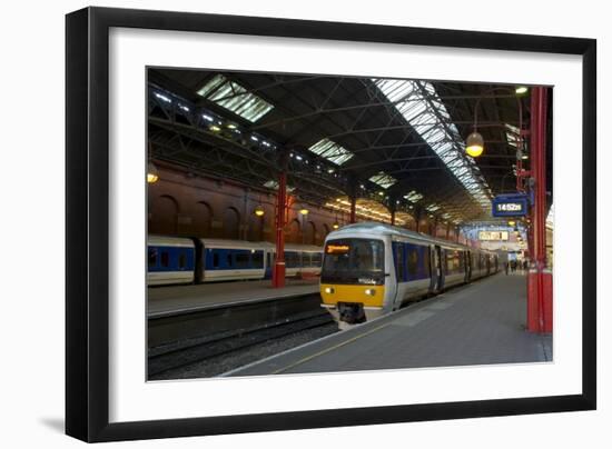
<path fill-rule="evenodd" d="M 317 328 L 328 327 L 329 333 L 334 321 L 319 301 L 318 295 L 304 295 L 149 317 L 148 378 L 172 378 L 181 368 L 221 356 L 229 360 L 269 342 L 280 348 L 283 338 L 309 330 L 316 335 Z"/>

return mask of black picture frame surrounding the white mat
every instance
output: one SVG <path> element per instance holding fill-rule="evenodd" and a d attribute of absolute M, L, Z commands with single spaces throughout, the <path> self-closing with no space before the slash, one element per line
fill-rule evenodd
<path fill-rule="evenodd" d="M 582 393 L 109 423 L 109 29 L 307 38 L 582 57 Z M 66 432 L 85 441 L 511 416 L 596 407 L 596 41 L 87 8 L 66 18 Z"/>

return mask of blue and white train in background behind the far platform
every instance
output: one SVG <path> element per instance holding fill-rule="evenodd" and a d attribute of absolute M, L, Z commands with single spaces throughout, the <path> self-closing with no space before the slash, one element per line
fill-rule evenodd
<path fill-rule="evenodd" d="M 147 285 L 170 286 L 272 278 L 273 243 L 150 235 L 147 238 Z M 316 277 L 323 248 L 285 245 L 285 276 Z"/>

